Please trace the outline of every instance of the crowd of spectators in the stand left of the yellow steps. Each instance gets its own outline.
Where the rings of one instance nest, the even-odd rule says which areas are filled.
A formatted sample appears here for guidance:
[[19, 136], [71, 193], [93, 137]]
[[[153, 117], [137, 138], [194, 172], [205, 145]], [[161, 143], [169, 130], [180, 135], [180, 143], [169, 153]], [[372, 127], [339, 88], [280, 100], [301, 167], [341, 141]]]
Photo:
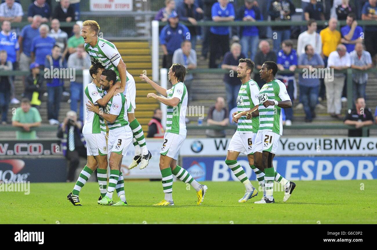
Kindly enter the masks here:
[[[64, 79], [45, 78], [44, 69], [70, 67], [89, 68], [89, 57], [84, 52], [84, 40], [80, 36], [81, 27], [75, 24], [80, 11], [80, 0], [60, 0], [52, 8], [51, 0], [32, 0], [29, 6], [21, 6], [18, 0], [3, 0], [0, 4], [0, 70], [29, 71], [22, 76], [23, 100], [29, 100], [31, 110], [39, 109], [41, 98], [48, 99], [48, 119], [50, 124], [59, 124], [58, 113], [64, 92]], [[24, 7], [24, 9], [23, 9]], [[28, 25], [13, 28], [12, 24], [28, 22]], [[60, 28], [60, 23], [68, 23]], [[69, 25], [69, 23], [71, 23]], [[80, 48], [78, 48], [80, 47]], [[71, 60], [69, 60], [69, 58]], [[9, 104], [18, 104], [15, 97], [15, 76], [0, 77], [1, 123], [8, 124]], [[71, 109], [78, 111], [82, 99], [82, 77], [70, 83]], [[81, 87], [78, 87], [81, 85]], [[80, 96], [81, 93], [81, 96]], [[26, 104], [24, 103], [24, 106]], [[26, 110], [26, 109], [25, 109]], [[34, 112], [34, 111], [33, 111]], [[13, 112], [13, 117], [15, 114]], [[80, 109], [80, 120], [83, 110]], [[13, 122], [14, 124], [14, 122]]]

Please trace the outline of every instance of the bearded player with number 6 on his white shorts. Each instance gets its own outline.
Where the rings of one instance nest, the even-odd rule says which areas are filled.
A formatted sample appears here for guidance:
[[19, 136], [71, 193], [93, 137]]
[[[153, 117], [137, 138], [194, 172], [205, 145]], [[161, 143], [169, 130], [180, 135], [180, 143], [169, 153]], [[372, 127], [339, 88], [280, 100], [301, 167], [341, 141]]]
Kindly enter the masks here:
[[251, 79], [254, 71], [254, 62], [250, 59], [240, 59], [237, 68], [237, 78], [241, 80], [242, 85], [238, 92], [237, 111], [232, 114], [232, 120], [238, 123], [236, 133], [234, 133], [228, 146], [227, 159], [225, 163], [233, 171], [234, 175], [245, 185], [246, 192], [244, 197], [238, 202], [246, 202], [258, 194], [257, 189], [253, 187], [247, 178], [245, 170], [237, 163], [239, 153], [247, 155], [249, 165], [253, 169], [253, 143], [259, 127], [259, 119], [248, 120], [246, 113], [258, 106], [259, 93], [258, 84]]

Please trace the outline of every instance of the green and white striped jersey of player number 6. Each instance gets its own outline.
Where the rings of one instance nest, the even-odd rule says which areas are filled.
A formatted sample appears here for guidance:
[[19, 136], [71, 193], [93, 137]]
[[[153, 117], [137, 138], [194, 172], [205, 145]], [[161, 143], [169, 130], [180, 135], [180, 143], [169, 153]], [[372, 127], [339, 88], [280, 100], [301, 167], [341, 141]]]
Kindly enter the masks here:
[[[250, 79], [245, 84], [242, 84], [237, 98], [237, 111], [243, 112], [252, 109], [255, 106], [259, 105], [258, 100], [259, 86], [258, 84]], [[254, 117], [251, 120], [247, 120], [246, 116], [242, 116], [238, 120], [237, 131], [244, 133], [256, 133], [259, 128], [259, 118]]]

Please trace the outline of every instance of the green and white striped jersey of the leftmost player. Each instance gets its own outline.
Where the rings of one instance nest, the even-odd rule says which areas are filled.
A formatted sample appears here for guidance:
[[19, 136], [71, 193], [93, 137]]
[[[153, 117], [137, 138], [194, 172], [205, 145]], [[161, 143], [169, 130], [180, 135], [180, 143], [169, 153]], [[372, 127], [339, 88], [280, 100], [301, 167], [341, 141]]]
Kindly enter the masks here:
[[[97, 101], [104, 96], [102, 88], [97, 87], [93, 82], [89, 83], [85, 88], [85, 103], [89, 104], [89, 101], [93, 104], [97, 104]], [[102, 117], [98, 114], [86, 110], [86, 118], [83, 126], [83, 134], [106, 134], [106, 124]]]

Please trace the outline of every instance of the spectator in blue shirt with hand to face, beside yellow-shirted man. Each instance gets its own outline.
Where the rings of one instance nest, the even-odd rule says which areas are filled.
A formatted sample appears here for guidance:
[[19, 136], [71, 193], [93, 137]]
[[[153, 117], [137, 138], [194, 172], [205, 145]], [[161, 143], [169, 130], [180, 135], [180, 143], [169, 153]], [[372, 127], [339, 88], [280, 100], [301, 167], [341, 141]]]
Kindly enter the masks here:
[[362, 41], [363, 28], [357, 25], [356, 15], [354, 13], [349, 13], [346, 19], [346, 26], [340, 29], [342, 33], [342, 40], [347, 52], [351, 53], [355, 49], [355, 44], [359, 41]]

